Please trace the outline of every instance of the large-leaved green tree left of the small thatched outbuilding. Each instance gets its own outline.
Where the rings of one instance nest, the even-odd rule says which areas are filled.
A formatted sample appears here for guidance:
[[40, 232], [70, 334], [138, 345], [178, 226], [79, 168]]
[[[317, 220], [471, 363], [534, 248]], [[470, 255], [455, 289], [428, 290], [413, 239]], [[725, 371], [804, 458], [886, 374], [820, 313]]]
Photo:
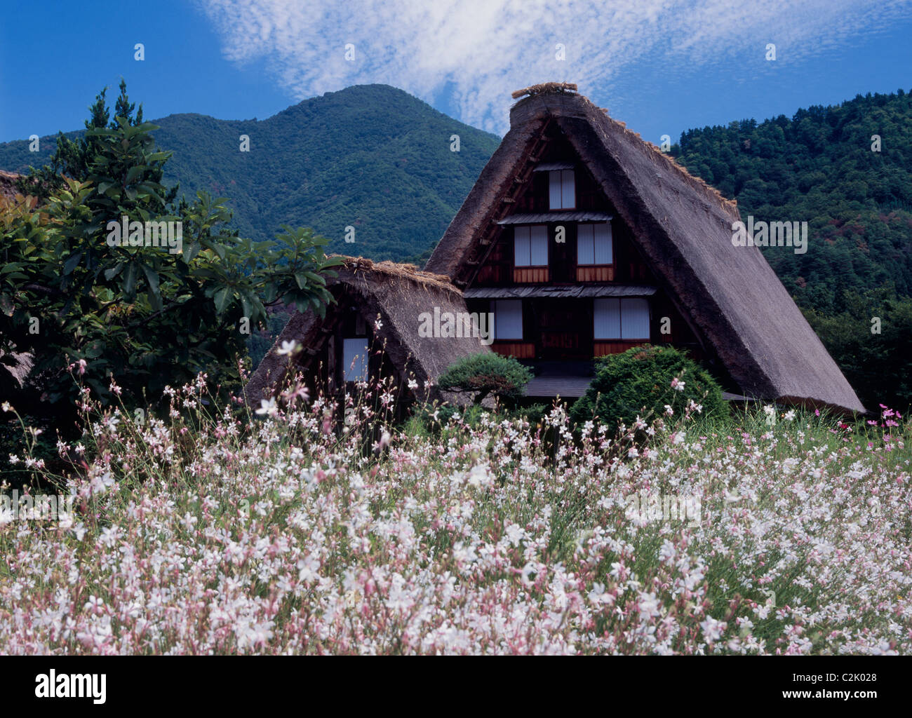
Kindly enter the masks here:
[[[117, 108], [130, 112], [121, 89]], [[234, 236], [226, 200], [205, 192], [169, 205], [160, 180], [170, 153], [155, 148], [155, 126], [137, 122], [140, 115], [95, 126], [107, 111], [93, 106], [85, 144], [64, 150], [83, 180], [62, 177], [46, 205], [0, 204], [0, 355], [34, 357], [32, 388], [44, 411], [62, 418], [77, 397], [72, 371], [106, 400], [118, 385], [132, 405], [198, 372], [224, 391], [239, 381], [237, 357], [266, 306], [325, 311], [332, 295], [324, 273], [339, 263], [311, 230], [285, 227], [278, 242]], [[173, 222], [174, 246], [148, 246], [149, 231], [111, 246], [124, 217]]]

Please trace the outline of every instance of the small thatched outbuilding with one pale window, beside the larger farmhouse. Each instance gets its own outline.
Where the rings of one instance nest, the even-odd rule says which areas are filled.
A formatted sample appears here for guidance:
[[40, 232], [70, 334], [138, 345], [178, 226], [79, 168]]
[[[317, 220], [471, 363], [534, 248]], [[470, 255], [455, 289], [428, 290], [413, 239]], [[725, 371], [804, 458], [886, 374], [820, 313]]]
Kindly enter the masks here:
[[[292, 315], [247, 383], [247, 403], [260, 405], [289, 373], [298, 372], [311, 390], [330, 394], [368, 378], [393, 377], [399, 396], [464, 402], [436, 386], [454, 362], [490, 351], [479, 335], [483, 321], [481, 332], [472, 331], [478, 327], [471, 322], [459, 323], [469, 316], [462, 292], [446, 277], [411, 264], [354, 257], [343, 262], [335, 270], [337, 277], [326, 281], [336, 303], [326, 307], [323, 319], [312, 310]], [[289, 342], [300, 344], [302, 351], [291, 357], [279, 354]], [[409, 388], [409, 383], [417, 387]]]

